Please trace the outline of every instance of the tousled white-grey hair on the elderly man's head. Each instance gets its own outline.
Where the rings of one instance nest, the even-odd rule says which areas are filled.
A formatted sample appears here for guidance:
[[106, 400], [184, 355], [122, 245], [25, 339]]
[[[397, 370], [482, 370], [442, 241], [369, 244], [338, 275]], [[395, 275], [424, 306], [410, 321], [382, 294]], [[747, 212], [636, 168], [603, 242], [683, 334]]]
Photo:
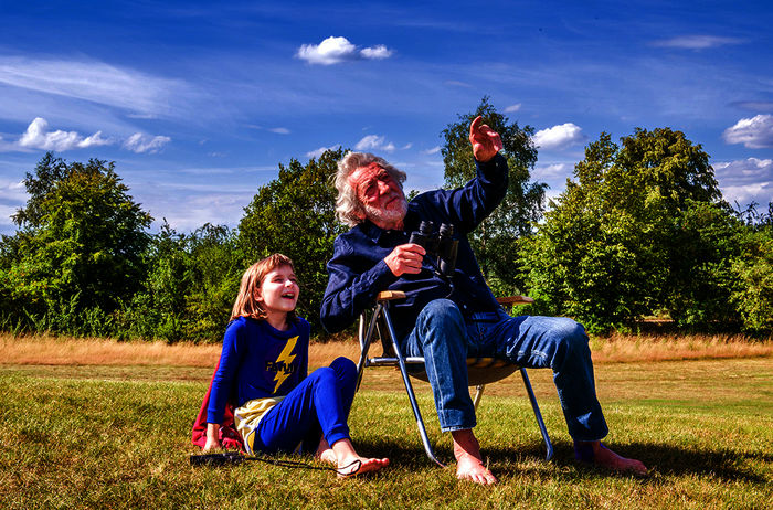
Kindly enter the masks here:
[[403, 182], [405, 182], [405, 172], [398, 170], [383, 158], [379, 158], [370, 152], [347, 152], [338, 161], [338, 171], [335, 180], [336, 190], [338, 190], [336, 214], [338, 214], [338, 220], [346, 225], [354, 226], [364, 221], [364, 208], [357, 199], [357, 190], [349, 185], [349, 176], [358, 168], [367, 167], [370, 163], [378, 163], [386, 170], [392, 176], [392, 179], [398, 181], [401, 189]]

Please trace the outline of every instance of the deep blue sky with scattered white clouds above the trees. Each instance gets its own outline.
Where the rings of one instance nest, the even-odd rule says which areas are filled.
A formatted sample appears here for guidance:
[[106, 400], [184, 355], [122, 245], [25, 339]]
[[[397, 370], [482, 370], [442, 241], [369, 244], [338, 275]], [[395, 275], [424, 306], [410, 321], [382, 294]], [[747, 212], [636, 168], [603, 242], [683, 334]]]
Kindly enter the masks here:
[[484, 95], [563, 190], [589, 141], [670, 127], [773, 200], [773, 4], [0, 0], [0, 233], [46, 150], [116, 161], [157, 220], [235, 226], [278, 163], [343, 146], [443, 183]]

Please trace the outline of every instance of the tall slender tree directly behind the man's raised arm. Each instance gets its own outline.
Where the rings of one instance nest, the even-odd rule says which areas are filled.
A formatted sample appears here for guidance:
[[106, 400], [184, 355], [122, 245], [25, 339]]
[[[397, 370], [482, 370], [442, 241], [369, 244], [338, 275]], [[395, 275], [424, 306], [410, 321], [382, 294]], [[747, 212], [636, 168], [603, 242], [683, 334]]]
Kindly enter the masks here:
[[518, 238], [530, 235], [533, 224], [542, 215], [547, 184], [529, 181], [530, 170], [537, 161], [537, 149], [531, 141], [533, 129], [529, 126], [520, 128], [518, 123], [510, 124], [485, 96], [474, 113], [459, 115], [458, 121], [443, 130], [445, 142], [441, 153], [446, 187], [462, 187], [475, 177], [468, 136], [469, 125], [477, 116], [501, 136], [510, 180], [504, 202], [472, 234], [470, 245], [495, 293], [510, 294], [522, 286], [512, 254], [517, 251]]

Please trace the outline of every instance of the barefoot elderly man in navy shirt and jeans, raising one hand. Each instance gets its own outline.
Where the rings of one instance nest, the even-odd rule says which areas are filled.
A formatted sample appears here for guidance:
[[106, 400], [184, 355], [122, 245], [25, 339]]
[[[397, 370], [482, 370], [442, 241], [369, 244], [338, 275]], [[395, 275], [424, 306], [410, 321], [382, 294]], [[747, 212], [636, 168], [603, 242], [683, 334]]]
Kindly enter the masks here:
[[[456, 190], [431, 191], [407, 203], [405, 173], [381, 158], [348, 153], [338, 163], [339, 219], [352, 229], [338, 236], [328, 263], [321, 307], [331, 332], [351, 325], [385, 289], [403, 290], [392, 318], [406, 355], [423, 355], [441, 429], [451, 432], [456, 475], [478, 484], [496, 478], [483, 463], [473, 434], [475, 408], [467, 389], [466, 358], [493, 355], [527, 368], [551, 368], [578, 459], [618, 471], [645, 474], [645, 466], [601, 443], [608, 429], [596, 400], [587, 336], [571, 319], [510, 317], [491, 295], [467, 242], [501, 202], [508, 168], [497, 132], [480, 117], [469, 128], [477, 177]], [[452, 277], [435, 270], [425, 249], [410, 243], [422, 221], [454, 226], [458, 240]]]

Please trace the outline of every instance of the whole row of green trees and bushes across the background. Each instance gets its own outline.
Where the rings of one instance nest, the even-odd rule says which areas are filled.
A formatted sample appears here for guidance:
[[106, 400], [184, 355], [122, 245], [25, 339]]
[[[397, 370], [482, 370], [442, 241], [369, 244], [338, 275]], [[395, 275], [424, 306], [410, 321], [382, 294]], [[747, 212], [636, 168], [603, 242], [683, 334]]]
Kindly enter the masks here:
[[[487, 97], [442, 132], [445, 185], [475, 174], [466, 138], [477, 115], [502, 136], [510, 166], [505, 203], [470, 238], [495, 294], [528, 294], [528, 312], [570, 316], [592, 332], [660, 317], [682, 329], [773, 333], [773, 203], [731, 206], [699, 144], [669, 128], [620, 142], [601, 134], [546, 204], [547, 185], [531, 179], [533, 129]], [[113, 162], [46, 153], [25, 176], [17, 232], [0, 241], [0, 329], [218, 341], [244, 269], [282, 252], [296, 264], [299, 314], [326, 338], [325, 265], [345, 230], [330, 178], [343, 153], [280, 163], [237, 227], [190, 233], [166, 222], [150, 233], [152, 217]]]

